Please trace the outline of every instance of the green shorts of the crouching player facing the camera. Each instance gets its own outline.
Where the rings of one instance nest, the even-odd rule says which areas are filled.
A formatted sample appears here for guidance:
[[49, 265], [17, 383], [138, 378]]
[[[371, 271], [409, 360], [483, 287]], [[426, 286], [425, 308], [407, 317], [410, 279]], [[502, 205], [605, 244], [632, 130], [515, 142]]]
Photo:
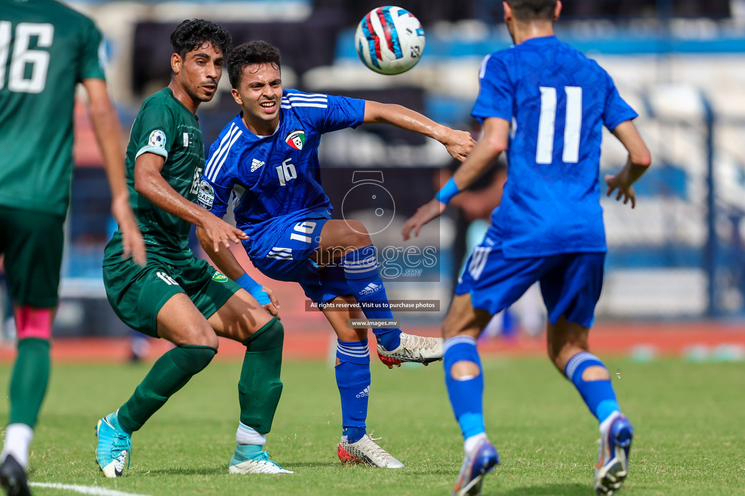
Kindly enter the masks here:
[[186, 293], [209, 318], [241, 289], [205, 260], [192, 258], [186, 265], [171, 265], [151, 254], [145, 267], [131, 259], [104, 265], [104, 287], [121, 321], [153, 338], [159, 337], [158, 312], [174, 294]]

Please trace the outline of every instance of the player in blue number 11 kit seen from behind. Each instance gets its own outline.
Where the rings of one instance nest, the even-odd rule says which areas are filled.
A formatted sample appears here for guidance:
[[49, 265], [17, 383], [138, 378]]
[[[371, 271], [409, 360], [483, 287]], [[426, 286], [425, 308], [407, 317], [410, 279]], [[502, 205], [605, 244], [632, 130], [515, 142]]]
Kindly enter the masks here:
[[[594, 486], [612, 495], [628, 473], [633, 428], [621, 413], [603, 362], [587, 335], [603, 285], [606, 252], [598, 202], [600, 141], [606, 126], [627, 148], [626, 166], [606, 175], [606, 194], [635, 204], [632, 184], [650, 152], [631, 122], [636, 112], [597, 63], [554, 36], [557, 0], [507, 0], [504, 20], [515, 45], [484, 59], [472, 115], [484, 138], [435, 199], [417, 210], [404, 239], [445, 210], [489, 162], [507, 149], [509, 174], [501, 205], [469, 259], [443, 322], [445, 377], [466, 456], [454, 495], [478, 495], [499, 463], [486, 438], [484, 376], [476, 338], [491, 315], [540, 281], [548, 309], [548, 355], [600, 422]], [[510, 132], [512, 135], [510, 136]]]

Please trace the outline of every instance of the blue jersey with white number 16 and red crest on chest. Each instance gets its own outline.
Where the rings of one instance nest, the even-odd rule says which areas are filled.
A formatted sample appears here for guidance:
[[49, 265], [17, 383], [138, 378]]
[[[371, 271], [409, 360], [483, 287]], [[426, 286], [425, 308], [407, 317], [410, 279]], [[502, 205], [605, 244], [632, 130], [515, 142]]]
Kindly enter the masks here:
[[197, 202], [223, 216], [233, 189], [245, 190], [233, 196], [233, 211], [235, 225], [250, 236], [244, 246], [252, 256], [273, 247], [268, 221], [330, 219], [333, 207], [323, 193], [318, 163], [320, 138], [359, 126], [364, 111], [364, 100], [285, 89], [273, 135], [253, 134], [239, 114], [210, 146]]

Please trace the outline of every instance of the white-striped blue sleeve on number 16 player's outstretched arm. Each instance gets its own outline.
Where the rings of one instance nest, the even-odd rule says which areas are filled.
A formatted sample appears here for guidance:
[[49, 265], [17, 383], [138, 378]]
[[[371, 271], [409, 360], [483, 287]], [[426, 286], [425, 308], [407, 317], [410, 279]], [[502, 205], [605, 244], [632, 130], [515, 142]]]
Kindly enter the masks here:
[[305, 107], [305, 115], [320, 133], [357, 127], [365, 118], [365, 100], [358, 98], [302, 93], [288, 93], [286, 98], [294, 107]]

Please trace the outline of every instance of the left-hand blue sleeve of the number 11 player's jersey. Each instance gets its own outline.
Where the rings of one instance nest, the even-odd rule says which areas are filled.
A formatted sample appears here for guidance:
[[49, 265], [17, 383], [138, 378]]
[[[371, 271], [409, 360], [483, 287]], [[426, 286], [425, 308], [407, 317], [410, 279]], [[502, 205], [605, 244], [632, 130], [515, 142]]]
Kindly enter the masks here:
[[512, 121], [515, 90], [504, 62], [494, 54], [487, 55], [481, 62], [478, 78], [481, 89], [471, 115], [481, 123], [488, 117]]

